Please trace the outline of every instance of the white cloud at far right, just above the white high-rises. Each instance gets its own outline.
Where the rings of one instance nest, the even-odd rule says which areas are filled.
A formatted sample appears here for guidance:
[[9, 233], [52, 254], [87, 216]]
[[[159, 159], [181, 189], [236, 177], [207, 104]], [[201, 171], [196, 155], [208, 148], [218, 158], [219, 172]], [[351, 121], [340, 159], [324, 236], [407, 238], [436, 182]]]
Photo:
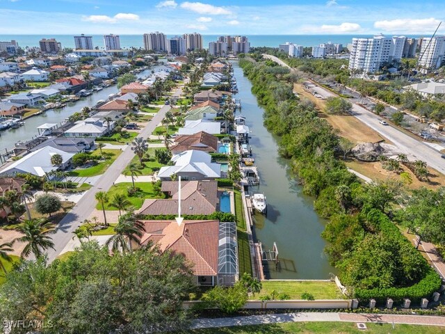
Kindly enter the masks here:
[[391, 19], [374, 22], [374, 28], [404, 33], [430, 33], [439, 25], [439, 19]]

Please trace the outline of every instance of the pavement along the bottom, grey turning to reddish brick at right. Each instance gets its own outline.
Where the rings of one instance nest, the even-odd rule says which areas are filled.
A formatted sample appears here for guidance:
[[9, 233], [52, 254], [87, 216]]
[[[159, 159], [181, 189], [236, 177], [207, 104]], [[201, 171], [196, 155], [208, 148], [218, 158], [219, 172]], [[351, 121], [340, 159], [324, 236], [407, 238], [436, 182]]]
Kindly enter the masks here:
[[445, 326], [445, 317], [424, 315], [380, 315], [342, 312], [295, 312], [273, 315], [250, 315], [245, 317], [226, 317], [214, 319], [196, 319], [191, 328], [217, 328], [228, 326], [248, 326], [261, 324], [280, 324], [301, 321], [346, 321], [373, 322], [378, 324], [413, 324]]

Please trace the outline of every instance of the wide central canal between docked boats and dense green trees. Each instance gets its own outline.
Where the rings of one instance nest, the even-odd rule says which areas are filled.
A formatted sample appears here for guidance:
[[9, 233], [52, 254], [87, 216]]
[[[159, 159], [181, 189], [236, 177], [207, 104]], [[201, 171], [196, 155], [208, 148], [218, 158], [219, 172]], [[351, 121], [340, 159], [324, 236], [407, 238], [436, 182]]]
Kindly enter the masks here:
[[335, 269], [323, 252], [326, 242], [321, 238], [326, 221], [314, 212], [313, 198], [302, 193], [291, 174], [289, 161], [278, 155], [277, 138], [263, 125], [264, 109], [251, 93], [252, 84], [234, 61], [234, 77], [241, 99], [241, 114], [250, 128], [250, 145], [259, 170], [260, 185], [252, 191], [264, 193], [268, 203], [267, 216], [255, 214], [255, 237], [264, 250], [272, 250], [276, 242], [280, 264], [270, 262], [267, 278], [271, 279], [328, 279]]

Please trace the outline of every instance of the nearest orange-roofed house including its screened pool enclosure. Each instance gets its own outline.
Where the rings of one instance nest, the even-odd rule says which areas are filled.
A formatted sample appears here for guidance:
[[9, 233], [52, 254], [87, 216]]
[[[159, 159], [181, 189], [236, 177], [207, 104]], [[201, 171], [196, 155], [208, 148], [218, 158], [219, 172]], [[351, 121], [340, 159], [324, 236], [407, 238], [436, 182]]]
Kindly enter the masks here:
[[184, 255], [192, 264], [195, 283], [202, 286], [234, 285], [238, 279], [238, 252], [235, 223], [219, 221], [140, 221], [143, 236], [131, 241], [132, 248], [149, 242], [161, 252]]

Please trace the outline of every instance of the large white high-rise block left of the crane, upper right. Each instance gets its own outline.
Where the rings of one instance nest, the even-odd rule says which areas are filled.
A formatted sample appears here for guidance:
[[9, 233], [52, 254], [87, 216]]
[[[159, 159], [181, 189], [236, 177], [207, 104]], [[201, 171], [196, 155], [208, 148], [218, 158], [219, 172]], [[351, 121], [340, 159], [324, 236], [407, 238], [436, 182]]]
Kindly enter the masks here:
[[383, 63], [401, 61], [405, 40], [405, 36], [391, 38], [381, 34], [373, 38], [353, 38], [349, 50], [349, 70], [374, 73], [380, 70]]

